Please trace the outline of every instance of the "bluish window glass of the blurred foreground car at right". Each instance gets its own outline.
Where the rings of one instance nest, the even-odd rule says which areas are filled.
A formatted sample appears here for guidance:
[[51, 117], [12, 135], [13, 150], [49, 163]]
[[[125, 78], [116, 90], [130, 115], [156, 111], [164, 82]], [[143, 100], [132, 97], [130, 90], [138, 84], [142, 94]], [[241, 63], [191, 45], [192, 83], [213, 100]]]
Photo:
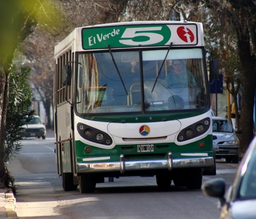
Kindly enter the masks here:
[[246, 168], [240, 187], [241, 199], [256, 199], [256, 150]]

